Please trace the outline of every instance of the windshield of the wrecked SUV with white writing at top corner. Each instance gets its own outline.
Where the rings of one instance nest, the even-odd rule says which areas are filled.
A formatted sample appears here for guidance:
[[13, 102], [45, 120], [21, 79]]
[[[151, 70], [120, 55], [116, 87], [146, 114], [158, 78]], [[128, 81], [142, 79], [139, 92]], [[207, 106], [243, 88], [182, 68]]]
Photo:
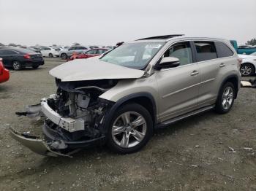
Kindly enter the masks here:
[[132, 69], [144, 69], [157, 54], [165, 42], [136, 42], [122, 44], [100, 58], [101, 61], [126, 66]]

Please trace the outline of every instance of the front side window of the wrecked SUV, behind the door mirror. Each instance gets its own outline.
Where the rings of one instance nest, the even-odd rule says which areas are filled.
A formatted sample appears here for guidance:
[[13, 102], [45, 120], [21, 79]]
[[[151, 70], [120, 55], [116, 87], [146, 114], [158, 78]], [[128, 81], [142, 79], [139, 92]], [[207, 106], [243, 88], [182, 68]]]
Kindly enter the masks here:
[[164, 57], [175, 57], [180, 61], [180, 66], [193, 63], [192, 50], [189, 42], [181, 42], [172, 45], [164, 54]]

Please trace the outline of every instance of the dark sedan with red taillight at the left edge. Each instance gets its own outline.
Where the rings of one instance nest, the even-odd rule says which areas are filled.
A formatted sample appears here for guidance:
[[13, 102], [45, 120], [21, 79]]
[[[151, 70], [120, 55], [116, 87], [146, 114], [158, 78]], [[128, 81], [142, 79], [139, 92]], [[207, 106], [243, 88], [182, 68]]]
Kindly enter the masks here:
[[42, 55], [22, 48], [1, 48], [0, 58], [3, 58], [5, 67], [12, 67], [15, 70], [20, 70], [27, 66], [37, 69], [45, 63]]

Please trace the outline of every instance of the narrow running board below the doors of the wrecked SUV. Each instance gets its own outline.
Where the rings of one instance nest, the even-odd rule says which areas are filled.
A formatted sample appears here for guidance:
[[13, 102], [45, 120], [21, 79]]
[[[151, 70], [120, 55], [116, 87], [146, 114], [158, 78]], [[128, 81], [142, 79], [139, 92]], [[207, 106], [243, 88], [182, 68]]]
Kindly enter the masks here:
[[209, 110], [211, 110], [211, 109], [214, 109], [214, 107], [215, 107], [215, 105], [206, 106], [206, 107], [197, 109], [197, 110], [195, 110], [195, 111], [193, 111], [193, 112], [189, 112], [189, 113], [187, 113], [187, 114], [181, 114], [181, 115], [178, 116], [178, 117], [174, 117], [174, 118], [172, 118], [172, 119], [170, 119], [170, 120], [166, 120], [166, 121], [164, 121], [164, 122], [161, 122], [161, 123], [157, 124], [157, 125], [155, 126], [155, 128], [156, 128], [156, 129], [157, 129], [157, 128], [167, 128], [169, 125], [173, 124], [174, 122], [178, 122], [179, 120], [183, 120], [183, 119], [185, 119], [185, 118], [187, 118], [187, 117], [191, 117], [191, 116], [194, 116], [194, 115], [196, 115], [196, 114], [201, 114], [201, 113], [203, 113], [203, 112], [207, 112], [207, 111], [209, 111]]

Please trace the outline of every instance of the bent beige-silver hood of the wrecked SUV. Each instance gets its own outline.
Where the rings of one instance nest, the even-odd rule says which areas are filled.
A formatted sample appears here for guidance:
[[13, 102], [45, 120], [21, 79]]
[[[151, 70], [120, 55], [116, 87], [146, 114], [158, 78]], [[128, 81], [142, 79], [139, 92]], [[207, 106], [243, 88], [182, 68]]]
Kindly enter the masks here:
[[75, 59], [51, 69], [49, 73], [61, 79], [62, 82], [68, 82], [93, 79], [135, 79], [142, 77], [144, 71], [100, 61], [97, 57]]

